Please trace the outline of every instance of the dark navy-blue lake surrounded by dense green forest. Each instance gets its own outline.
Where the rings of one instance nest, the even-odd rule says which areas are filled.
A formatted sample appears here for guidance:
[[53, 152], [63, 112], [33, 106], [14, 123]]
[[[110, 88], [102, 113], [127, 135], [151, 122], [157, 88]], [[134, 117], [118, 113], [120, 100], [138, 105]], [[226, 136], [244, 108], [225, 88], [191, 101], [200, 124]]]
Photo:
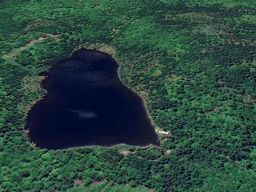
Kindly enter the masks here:
[[48, 149], [159, 145], [142, 98], [120, 81], [118, 67], [106, 53], [81, 49], [41, 73], [48, 93], [29, 112], [31, 141]]

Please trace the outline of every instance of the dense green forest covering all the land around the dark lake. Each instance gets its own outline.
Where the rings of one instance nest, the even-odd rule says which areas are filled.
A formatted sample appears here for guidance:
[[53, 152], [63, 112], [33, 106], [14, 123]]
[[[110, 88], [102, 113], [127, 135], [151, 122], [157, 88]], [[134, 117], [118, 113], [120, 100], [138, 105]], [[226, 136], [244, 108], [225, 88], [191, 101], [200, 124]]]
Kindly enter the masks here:
[[[0, 1], [0, 191], [256, 191], [255, 6]], [[156, 129], [172, 133], [160, 147], [28, 141], [27, 113], [46, 94], [37, 74], [89, 45], [112, 53]]]

